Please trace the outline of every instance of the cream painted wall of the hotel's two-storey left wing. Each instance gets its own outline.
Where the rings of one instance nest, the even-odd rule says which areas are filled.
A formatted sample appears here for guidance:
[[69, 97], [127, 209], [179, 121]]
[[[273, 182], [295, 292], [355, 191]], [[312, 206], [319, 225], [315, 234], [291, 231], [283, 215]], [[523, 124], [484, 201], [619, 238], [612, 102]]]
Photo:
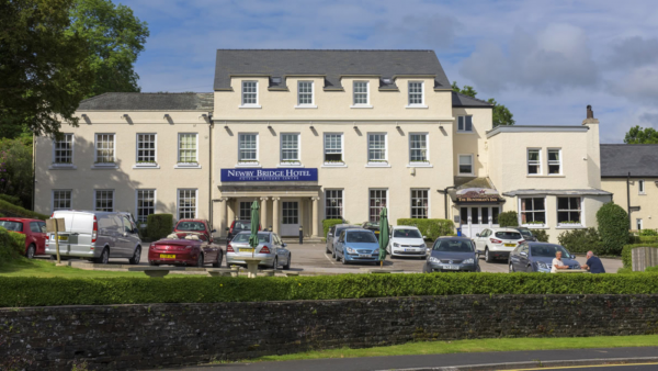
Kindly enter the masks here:
[[[137, 189], [156, 189], [156, 212], [177, 213], [177, 190], [197, 189], [197, 217], [208, 215], [209, 135], [208, 112], [77, 112], [86, 113], [79, 127], [64, 126], [63, 133], [73, 134], [76, 169], [52, 169], [53, 142], [36, 139], [35, 210], [52, 213], [52, 191], [72, 190], [72, 207], [93, 210], [94, 190], [114, 190], [114, 209], [136, 214]], [[129, 122], [120, 119], [127, 113]], [[168, 113], [170, 122], [162, 116]], [[94, 168], [94, 134], [115, 134], [117, 169]], [[134, 169], [137, 133], [157, 133], [159, 169]], [[178, 134], [198, 133], [197, 159], [201, 169], [174, 169], [178, 156]], [[174, 216], [175, 217], [175, 216]]]

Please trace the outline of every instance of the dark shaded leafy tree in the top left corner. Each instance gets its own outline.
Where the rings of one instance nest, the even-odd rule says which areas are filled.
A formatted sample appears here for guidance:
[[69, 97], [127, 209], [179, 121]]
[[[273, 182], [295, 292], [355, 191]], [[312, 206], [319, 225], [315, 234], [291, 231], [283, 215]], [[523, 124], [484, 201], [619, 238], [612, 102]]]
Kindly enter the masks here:
[[[0, 2], [0, 126], [54, 134], [91, 91], [87, 42], [69, 30], [73, 0]], [[15, 131], [14, 131], [15, 132]]]

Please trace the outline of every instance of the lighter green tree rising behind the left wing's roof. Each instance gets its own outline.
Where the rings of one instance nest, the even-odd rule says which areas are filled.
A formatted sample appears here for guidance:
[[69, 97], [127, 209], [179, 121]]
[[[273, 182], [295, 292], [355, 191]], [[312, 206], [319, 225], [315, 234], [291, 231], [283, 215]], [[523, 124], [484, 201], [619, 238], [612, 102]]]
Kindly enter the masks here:
[[134, 64], [149, 36], [126, 5], [110, 0], [76, 0], [70, 11], [69, 34], [79, 34], [89, 45], [88, 61], [94, 75], [86, 98], [116, 91], [140, 91]]

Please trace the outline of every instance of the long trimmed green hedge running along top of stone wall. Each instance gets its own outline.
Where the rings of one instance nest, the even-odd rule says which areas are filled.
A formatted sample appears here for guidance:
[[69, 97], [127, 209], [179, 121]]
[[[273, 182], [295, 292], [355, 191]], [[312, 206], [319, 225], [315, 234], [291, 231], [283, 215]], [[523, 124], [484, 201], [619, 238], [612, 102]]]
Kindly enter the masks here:
[[0, 307], [339, 300], [466, 294], [656, 294], [658, 274], [341, 274], [65, 279], [0, 277]]

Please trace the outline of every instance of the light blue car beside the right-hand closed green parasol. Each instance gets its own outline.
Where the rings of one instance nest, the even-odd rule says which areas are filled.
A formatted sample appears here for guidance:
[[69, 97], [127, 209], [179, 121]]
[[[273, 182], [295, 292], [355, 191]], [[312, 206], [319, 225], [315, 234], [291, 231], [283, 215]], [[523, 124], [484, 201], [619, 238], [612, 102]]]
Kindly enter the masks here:
[[379, 262], [379, 243], [374, 232], [344, 229], [334, 245], [336, 260], [351, 262]]

